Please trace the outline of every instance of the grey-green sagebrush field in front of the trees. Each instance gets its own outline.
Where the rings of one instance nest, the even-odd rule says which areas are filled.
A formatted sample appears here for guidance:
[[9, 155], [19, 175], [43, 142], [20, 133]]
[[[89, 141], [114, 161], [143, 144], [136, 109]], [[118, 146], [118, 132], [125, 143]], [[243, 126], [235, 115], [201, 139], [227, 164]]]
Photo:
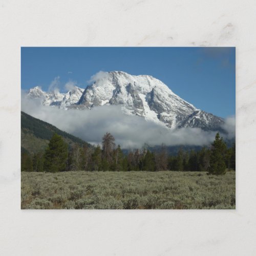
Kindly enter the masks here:
[[22, 209], [235, 209], [236, 173], [22, 172]]

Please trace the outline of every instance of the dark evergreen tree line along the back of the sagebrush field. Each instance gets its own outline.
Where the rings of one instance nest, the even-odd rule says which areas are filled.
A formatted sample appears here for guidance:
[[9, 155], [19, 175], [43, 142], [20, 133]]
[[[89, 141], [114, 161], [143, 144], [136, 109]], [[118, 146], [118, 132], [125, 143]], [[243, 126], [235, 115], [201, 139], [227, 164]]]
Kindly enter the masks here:
[[200, 151], [184, 151], [180, 148], [177, 156], [167, 154], [164, 144], [159, 152], [146, 148], [137, 149], [124, 155], [115, 138], [106, 133], [102, 145], [89, 147], [75, 144], [68, 149], [60, 135], [52, 136], [45, 152], [30, 156], [22, 152], [21, 170], [26, 172], [64, 172], [64, 171], [117, 171], [129, 172], [144, 170], [199, 171], [209, 174], [224, 174], [226, 169], [236, 169], [236, 145], [228, 148], [219, 133], [210, 147]]

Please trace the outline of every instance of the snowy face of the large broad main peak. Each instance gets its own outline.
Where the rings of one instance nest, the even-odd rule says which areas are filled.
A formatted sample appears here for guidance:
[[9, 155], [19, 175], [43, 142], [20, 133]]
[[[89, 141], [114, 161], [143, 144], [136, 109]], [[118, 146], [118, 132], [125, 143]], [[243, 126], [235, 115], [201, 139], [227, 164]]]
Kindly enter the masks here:
[[173, 128], [197, 111], [194, 105], [172, 92], [160, 80], [113, 71], [84, 90], [78, 104], [87, 109], [102, 104], [121, 105], [124, 113], [143, 116]]

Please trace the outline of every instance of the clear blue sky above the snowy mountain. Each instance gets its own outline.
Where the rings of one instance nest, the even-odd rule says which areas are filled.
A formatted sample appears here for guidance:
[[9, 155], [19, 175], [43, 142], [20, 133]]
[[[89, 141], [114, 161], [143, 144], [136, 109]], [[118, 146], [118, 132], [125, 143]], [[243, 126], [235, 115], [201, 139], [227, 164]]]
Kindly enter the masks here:
[[86, 88], [99, 71], [152, 75], [197, 108], [220, 117], [235, 114], [234, 47], [23, 47], [23, 90], [47, 91], [59, 76], [60, 89], [72, 80]]

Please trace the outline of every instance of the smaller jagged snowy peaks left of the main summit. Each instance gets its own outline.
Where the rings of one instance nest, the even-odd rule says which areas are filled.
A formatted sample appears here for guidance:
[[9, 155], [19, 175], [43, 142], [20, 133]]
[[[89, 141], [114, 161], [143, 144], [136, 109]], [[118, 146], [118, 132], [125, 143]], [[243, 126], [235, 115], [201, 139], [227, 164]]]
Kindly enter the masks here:
[[60, 108], [67, 108], [79, 101], [84, 89], [74, 87], [67, 93], [50, 92], [46, 93], [36, 86], [29, 90], [27, 97], [31, 99], [39, 98], [42, 100], [42, 105], [45, 106], [59, 106]]

